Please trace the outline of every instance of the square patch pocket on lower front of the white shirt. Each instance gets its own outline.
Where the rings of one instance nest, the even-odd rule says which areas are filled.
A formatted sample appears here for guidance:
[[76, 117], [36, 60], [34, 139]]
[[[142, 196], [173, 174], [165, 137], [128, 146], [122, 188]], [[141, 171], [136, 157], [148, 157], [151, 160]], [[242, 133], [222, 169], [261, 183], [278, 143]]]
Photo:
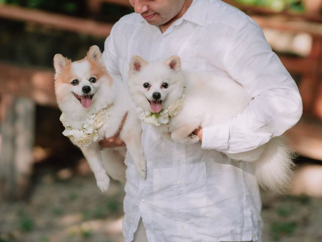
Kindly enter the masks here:
[[205, 163], [153, 171], [153, 206], [156, 215], [185, 222], [206, 214]]

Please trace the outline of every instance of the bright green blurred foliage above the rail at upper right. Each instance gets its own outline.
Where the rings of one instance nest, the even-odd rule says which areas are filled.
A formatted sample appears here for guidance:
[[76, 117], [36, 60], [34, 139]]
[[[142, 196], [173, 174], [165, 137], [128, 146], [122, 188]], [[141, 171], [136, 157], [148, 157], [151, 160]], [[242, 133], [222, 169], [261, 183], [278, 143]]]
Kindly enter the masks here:
[[275, 12], [289, 10], [292, 12], [304, 12], [303, 3], [301, 0], [234, 0], [235, 2], [245, 4], [267, 7]]

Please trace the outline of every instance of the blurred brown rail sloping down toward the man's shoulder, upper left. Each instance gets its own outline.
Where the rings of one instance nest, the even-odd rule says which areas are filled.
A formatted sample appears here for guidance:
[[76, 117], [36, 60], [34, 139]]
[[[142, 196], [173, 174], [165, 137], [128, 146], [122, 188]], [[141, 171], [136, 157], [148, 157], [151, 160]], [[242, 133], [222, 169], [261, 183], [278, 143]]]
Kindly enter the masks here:
[[0, 18], [33, 22], [61, 30], [107, 37], [113, 24], [0, 4]]

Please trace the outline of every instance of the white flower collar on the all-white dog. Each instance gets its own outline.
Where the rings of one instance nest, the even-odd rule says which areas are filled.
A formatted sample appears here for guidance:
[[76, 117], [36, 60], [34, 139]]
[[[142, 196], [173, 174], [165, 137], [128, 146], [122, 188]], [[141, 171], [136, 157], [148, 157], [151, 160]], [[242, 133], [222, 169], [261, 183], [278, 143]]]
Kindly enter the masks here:
[[159, 126], [161, 124], [168, 124], [169, 118], [177, 115], [181, 111], [184, 97], [185, 95], [183, 94], [176, 102], [171, 104], [165, 110], [161, 110], [159, 112], [144, 111], [140, 107], [136, 108], [136, 112], [139, 114], [139, 118], [145, 124], [155, 126]]

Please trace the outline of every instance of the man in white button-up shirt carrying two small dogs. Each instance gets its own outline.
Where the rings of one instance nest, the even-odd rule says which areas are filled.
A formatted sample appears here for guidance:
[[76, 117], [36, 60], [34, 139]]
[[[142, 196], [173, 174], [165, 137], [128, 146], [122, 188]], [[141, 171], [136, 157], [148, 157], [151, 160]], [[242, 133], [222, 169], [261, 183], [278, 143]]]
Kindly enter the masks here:
[[[130, 158], [125, 241], [261, 241], [259, 188], [251, 165], [220, 152], [252, 150], [283, 134], [302, 113], [298, 89], [258, 27], [219, 0], [130, 0], [105, 42], [108, 71], [127, 81], [132, 55], [179, 55], [182, 68], [234, 79], [253, 100], [224, 125], [195, 133], [201, 145], [168, 142], [142, 125], [147, 160], [140, 179]], [[233, 97], [232, 97], [233, 98]], [[120, 144], [117, 137], [102, 142]]]

